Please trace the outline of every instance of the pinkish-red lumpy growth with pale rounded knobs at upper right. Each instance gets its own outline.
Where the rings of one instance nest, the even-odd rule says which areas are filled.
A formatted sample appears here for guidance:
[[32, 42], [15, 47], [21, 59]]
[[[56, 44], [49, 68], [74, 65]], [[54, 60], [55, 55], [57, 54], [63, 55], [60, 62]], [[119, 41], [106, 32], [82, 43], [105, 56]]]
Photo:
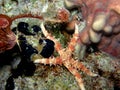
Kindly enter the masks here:
[[[114, 45], [120, 45], [119, 40], [116, 39], [120, 34], [119, 4], [120, 0], [65, 0], [67, 9], [79, 8], [82, 11], [83, 19], [86, 20], [84, 30], [80, 32], [79, 53], [84, 52], [85, 49], [82, 48], [91, 43], [100, 43], [98, 46], [100, 50], [119, 57], [120, 48], [117, 47], [116, 50], [114, 47]], [[106, 38], [109, 42], [104, 40]], [[80, 57], [82, 56], [83, 53]]]

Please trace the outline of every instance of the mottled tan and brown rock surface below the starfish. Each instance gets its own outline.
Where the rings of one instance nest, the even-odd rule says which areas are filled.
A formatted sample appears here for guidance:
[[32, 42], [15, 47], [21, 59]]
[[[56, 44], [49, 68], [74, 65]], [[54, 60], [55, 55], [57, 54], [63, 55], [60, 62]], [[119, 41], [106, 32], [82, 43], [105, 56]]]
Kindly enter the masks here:
[[[90, 77], [80, 71], [86, 90], [114, 90], [114, 84], [119, 84], [120, 62], [118, 60], [106, 54], [93, 53], [82, 63], [99, 75]], [[36, 66], [33, 76], [19, 76], [14, 79], [15, 90], [80, 90], [73, 75], [65, 67], [42, 64]], [[6, 79], [10, 76], [10, 66], [4, 66], [0, 72], [0, 88], [4, 90]]]

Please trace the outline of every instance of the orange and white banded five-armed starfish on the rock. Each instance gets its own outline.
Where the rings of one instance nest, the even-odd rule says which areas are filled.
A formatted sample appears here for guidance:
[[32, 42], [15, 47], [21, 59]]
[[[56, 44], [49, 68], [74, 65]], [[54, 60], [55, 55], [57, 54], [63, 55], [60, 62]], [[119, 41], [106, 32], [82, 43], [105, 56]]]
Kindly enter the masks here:
[[87, 73], [90, 76], [97, 76], [97, 74], [92, 73], [80, 61], [74, 60], [74, 58], [72, 57], [74, 47], [75, 47], [76, 42], [79, 38], [78, 25], [75, 24], [75, 32], [74, 32], [73, 37], [71, 38], [71, 40], [68, 44], [68, 47], [66, 47], [66, 48], [63, 48], [61, 46], [60, 42], [57, 39], [55, 39], [50, 33], [47, 32], [43, 23], [41, 24], [41, 29], [42, 29], [42, 32], [46, 38], [54, 41], [55, 49], [58, 52], [59, 56], [49, 57], [47, 59], [46, 58], [36, 59], [34, 61], [34, 63], [41, 63], [41, 64], [45, 64], [45, 65], [49, 64], [49, 65], [63, 65], [63, 66], [65, 66], [74, 75], [81, 90], [85, 90], [82, 77], [79, 74], [78, 70], [82, 70], [83, 72]]

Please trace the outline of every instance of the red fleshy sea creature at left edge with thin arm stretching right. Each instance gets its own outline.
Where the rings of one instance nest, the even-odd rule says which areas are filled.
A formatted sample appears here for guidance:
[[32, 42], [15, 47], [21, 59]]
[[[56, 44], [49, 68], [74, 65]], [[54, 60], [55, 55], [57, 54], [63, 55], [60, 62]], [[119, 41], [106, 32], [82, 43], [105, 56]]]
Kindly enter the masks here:
[[15, 34], [11, 31], [10, 26], [15, 19], [24, 17], [43, 19], [42, 16], [32, 14], [21, 14], [14, 17], [0, 14], [0, 53], [14, 47], [17, 39]]

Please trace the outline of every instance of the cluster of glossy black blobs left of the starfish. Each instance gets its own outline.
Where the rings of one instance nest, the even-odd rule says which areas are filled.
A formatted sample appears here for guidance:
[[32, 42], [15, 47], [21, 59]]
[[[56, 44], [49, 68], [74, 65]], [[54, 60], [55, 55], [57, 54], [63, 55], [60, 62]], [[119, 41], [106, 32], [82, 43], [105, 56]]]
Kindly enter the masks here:
[[[22, 24], [22, 26], [21, 26]], [[19, 26], [19, 28], [18, 28]], [[50, 57], [54, 52], [54, 42], [49, 39], [41, 39], [38, 36], [40, 27], [37, 25], [33, 25], [31, 28], [33, 28], [33, 32], [29, 32], [28, 29], [28, 23], [26, 22], [19, 22], [17, 27], [13, 28], [12, 31], [18, 36], [18, 44], [16, 44], [11, 50], [10, 53], [7, 54], [11, 58], [10, 60], [18, 62], [16, 67], [12, 66], [12, 74], [7, 79], [6, 83], [6, 90], [9, 88], [14, 89], [14, 79], [18, 78], [18, 76], [32, 76], [35, 72], [36, 65], [32, 61], [32, 56], [38, 54], [41, 55], [44, 58]], [[19, 29], [19, 30], [18, 30]], [[26, 31], [26, 29], [28, 31]], [[23, 30], [21, 32], [21, 30]], [[16, 33], [17, 32], [17, 33]], [[36, 48], [33, 44], [29, 43], [28, 40], [35, 40], [33, 38], [36, 37], [37, 45]], [[30, 38], [30, 39], [28, 39]], [[40, 39], [40, 40], [39, 40]], [[36, 43], [36, 42], [34, 42]], [[42, 48], [43, 45], [43, 48]], [[40, 47], [41, 46], [41, 47]], [[6, 51], [7, 52], [7, 51]], [[47, 54], [46, 54], [47, 53]], [[5, 54], [5, 53], [3, 53]], [[12, 54], [15, 54], [14, 57]], [[6, 55], [5, 55], [6, 56]], [[16, 57], [19, 56], [19, 59]], [[3, 57], [4, 59], [4, 57]], [[14, 61], [12, 62], [14, 64]], [[5, 61], [6, 62], [6, 61]]]

